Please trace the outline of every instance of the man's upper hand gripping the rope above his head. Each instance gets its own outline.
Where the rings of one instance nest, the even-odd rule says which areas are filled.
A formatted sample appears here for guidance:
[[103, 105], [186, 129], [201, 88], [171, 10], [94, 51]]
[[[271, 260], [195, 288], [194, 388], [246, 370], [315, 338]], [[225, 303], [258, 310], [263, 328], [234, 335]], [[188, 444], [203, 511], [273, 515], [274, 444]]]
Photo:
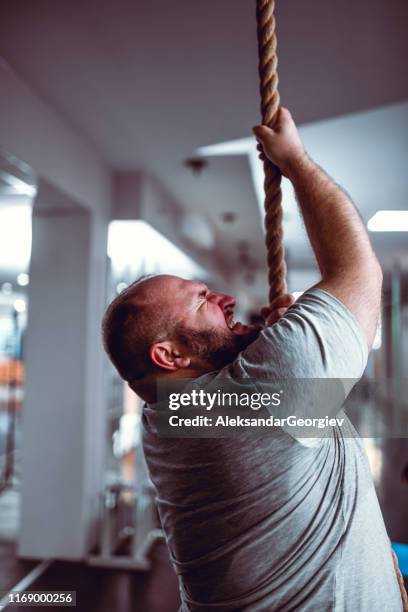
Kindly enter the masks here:
[[265, 161], [268, 158], [282, 174], [290, 178], [291, 170], [306, 153], [288, 109], [279, 108], [273, 130], [266, 125], [257, 125], [253, 132], [258, 141], [260, 159]]

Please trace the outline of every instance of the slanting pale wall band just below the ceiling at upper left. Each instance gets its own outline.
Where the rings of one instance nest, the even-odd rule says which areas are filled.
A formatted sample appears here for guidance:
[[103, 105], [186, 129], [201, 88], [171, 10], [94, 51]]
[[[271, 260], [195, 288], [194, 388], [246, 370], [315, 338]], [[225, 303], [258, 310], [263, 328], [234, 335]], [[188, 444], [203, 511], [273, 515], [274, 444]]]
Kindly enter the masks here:
[[0, 148], [97, 214], [110, 212], [110, 173], [78, 131], [0, 60]]

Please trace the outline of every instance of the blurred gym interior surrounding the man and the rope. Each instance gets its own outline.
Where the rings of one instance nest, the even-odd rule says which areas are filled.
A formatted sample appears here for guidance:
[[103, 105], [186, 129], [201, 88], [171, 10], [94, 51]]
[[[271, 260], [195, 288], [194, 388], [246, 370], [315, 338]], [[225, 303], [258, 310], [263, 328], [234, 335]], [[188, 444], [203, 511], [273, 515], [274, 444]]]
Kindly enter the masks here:
[[[254, 5], [2, 2], [0, 591], [178, 609], [141, 402], [107, 362], [100, 321], [145, 273], [200, 278], [247, 320], [265, 303]], [[282, 104], [356, 202], [384, 270], [350, 412], [408, 574], [408, 5], [286, 0], [276, 15]], [[299, 295], [319, 277], [283, 192]]]

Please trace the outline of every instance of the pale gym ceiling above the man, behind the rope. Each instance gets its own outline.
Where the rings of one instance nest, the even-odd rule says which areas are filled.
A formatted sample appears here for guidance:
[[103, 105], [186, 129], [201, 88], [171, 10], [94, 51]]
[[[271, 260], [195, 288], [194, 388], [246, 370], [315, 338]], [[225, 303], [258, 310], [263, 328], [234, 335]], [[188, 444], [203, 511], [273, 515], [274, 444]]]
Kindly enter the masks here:
[[[113, 168], [142, 170], [183, 209], [207, 215], [230, 269], [240, 265], [242, 240], [263, 266], [247, 158], [211, 158], [200, 176], [183, 161], [204, 145], [247, 136], [259, 121], [254, 4], [3, 0], [0, 23], [0, 54], [6, 61]], [[369, 214], [379, 201], [372, 179], [381, 172], [375, 148], [381, 142], [377, 119], [367, 111], [408, 100], [408, 3], [282, 0], [276, 12], [282, 103], [299, 124], [307, 124], [306, 144], [323, 164], [330, 157], [330, 171], [339, 180], [344, 167], [346, 180], [358, 168], [358, 202], [364, 201]], [[394, 136], [403, 137], [401, 121], [406, 127], [406, 114], [401, 118], [395, 108], [405, 107], [391, 106], [381, 118], [391, 156]], [[343, 116], [351, 122], [333, 119]], [[398, 147], [406, 155], [406, 148]], [[392, 193], [404, 192], [402, 159], [392, 182], [381, 176], [383, 207], [391, 207], [384, 197], [390, 193], [387, 185]], [[234, 212], [235, 221], [225, 223], [225, 212]], [[292, 265], [309, 265], [298, 235], [287, 229]]]

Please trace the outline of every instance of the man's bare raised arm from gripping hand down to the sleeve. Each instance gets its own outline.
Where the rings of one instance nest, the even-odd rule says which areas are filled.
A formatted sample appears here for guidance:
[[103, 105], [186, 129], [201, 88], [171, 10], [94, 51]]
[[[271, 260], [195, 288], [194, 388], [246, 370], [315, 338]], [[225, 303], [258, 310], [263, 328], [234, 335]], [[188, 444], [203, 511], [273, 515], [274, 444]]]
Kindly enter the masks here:
[[317, 286], [351, 310], [371, 349], [380, 312], [382, 272], [364, 223], [347, 194], [308, 157], [288, 110], [279, 110], [275, 129], [257, 126], [254, 133], [260, 157], [266, 155], [294, 186], [322, 275]]

